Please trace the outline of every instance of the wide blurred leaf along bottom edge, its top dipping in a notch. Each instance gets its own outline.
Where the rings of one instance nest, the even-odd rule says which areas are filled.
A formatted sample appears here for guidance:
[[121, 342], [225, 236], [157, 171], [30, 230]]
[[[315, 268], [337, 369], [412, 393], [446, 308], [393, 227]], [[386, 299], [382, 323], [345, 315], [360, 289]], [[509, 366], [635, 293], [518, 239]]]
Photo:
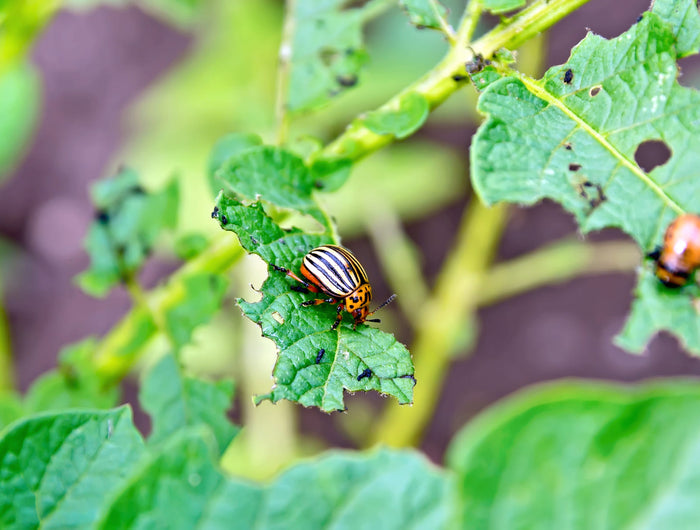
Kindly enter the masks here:
[[383, 449], [297, 465], [269, 486], [225, 479], [198, 433], [135, 475], [99, 528], [445, 528], [448, 477], [424, 457]]

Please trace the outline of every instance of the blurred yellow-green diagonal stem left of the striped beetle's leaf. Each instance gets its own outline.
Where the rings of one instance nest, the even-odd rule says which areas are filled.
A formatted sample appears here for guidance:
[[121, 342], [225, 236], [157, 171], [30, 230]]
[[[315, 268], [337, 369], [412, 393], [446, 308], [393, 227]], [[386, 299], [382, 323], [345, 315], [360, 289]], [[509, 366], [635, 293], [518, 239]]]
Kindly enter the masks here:
[[146, 307], [136, 305], [105, 335], [95, 354], [97, 373], [106, 384], [121, 380], [158, 334], [153, 314], [163, 318], [184, 293], [183, 280], [202, 273], [220, 274], [243, 257], [232, 234], [224, 234], [196, 258], [185, 263], [168, 283], [144, 295]]

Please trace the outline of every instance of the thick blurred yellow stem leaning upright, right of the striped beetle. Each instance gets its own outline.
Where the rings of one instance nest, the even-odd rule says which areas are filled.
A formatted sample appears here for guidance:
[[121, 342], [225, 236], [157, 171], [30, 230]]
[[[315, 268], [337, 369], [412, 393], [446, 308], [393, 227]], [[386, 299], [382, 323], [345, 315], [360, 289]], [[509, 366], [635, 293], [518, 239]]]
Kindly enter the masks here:
[[414, 404], [390, 403], [377, 422], [372, 443], [416, 445], [433, 415], [452, 355], [476, 309], [477, 293], [490, 266], [505, 224], [504, 206], [486, 208], [476, 198], [463, 217], [456, 247], [425, 301], [410, 348], [418, 384]]

